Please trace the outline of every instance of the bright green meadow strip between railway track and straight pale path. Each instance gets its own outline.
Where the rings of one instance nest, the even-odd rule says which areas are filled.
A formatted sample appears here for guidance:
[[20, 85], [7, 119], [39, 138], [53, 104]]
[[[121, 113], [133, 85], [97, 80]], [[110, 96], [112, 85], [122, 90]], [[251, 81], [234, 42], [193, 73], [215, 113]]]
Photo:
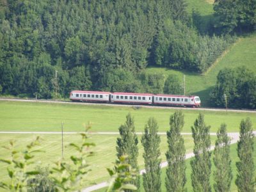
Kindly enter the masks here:
[[[176, 110], [171, 108], [132, 108], [125, 106], [102, 106], [88, 104], [53, 104], [40, 102], [0, 101], [0, 131], [84, 131], [84, 125], [92, 122], [92, 132], [118, 131], [125, 122], [127, 113], [134, 116], [136, 131], [142, 132], [149, 117], [154, 116], [159, 131], [169, 129], [169, 118]], [[183, 108], [180, 108], [182, 110]], [[255, 113], [235, 113], [225, 111], [197, 111], [183, 109], [185, 125], [183, 132], [191, 132], [191, 126], [199, 113], [205, 115], [205, 122], [216, 132], [222, 123], [228, 132], [238, 132], [241, 119], [250, 117], [256, 124]]]

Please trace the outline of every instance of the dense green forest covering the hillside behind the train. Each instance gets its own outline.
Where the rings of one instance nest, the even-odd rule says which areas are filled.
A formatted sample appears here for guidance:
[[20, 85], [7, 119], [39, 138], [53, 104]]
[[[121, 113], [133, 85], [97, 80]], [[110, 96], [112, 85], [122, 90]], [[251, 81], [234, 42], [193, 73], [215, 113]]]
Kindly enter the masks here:
[[0, 93], [56, 97], [56, 70], [58, 97], [77, 89], [163, 93], [163, 77], [147, 66], [200, 74], [237, 31], [255, 28], [253, 0], [237, 0], [233, 20], [225, 12], [233, 1], [225, 2], [215, 1], [214, 20], [200, 31], [200, 14], [186, 12], [185, 1], [3, 0]]

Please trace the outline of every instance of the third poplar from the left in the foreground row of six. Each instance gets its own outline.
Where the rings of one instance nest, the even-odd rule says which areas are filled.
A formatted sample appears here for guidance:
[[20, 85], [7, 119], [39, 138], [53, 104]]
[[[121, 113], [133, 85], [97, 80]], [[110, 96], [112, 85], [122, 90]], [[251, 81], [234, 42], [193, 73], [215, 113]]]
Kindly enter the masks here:
[[167, 191], [186, 191], [186, 164], [184, 139], [180, 131], [184, 126], [184, 115], [176, 111], [170, 116], [170, 131], [167, 131], [168, 151], [166, 159], [168, 168], [166, 170], [165, 186]]

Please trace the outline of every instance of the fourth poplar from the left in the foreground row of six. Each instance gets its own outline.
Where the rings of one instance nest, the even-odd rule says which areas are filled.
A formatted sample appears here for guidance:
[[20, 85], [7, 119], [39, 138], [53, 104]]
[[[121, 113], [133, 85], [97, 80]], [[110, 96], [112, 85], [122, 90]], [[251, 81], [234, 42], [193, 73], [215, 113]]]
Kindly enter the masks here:
[[204, 115], [199, 114], [195, 120], [192, 129], [192, 136], [194, 139], [195, 158], [191, 160], [191, 180], [193, 191], [206, 192], [211, 191], [210, 176], [211, 176], [211, 139], [209, 129], [211, 126], [206, 126], [204, 122]]

